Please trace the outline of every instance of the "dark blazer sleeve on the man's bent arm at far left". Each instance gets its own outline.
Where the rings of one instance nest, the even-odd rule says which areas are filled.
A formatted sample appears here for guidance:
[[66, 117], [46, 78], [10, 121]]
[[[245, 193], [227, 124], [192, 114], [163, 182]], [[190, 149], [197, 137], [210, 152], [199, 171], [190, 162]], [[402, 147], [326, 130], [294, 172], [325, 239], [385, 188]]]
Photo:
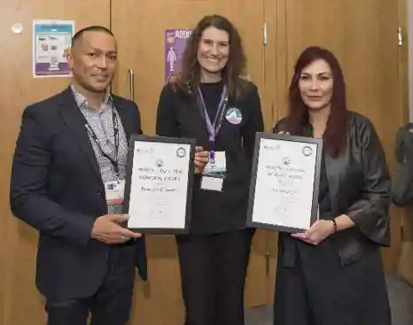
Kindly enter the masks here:
[[74, 215], [47, 197], [52, 139], [43, 111], [37, 108], [27, 107], [22, 116], [12, 161], [12, 213], [48, 236], [65, 238], [73, 244], [87, 244], [95, 219], [89, 215]]

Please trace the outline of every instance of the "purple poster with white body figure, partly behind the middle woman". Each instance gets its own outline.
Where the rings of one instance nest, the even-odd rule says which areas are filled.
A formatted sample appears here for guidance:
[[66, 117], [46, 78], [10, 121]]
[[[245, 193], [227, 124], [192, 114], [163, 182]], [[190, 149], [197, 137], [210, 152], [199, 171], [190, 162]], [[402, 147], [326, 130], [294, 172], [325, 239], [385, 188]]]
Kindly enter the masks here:
[[191, 37], [189, 29], [167, 29], [165, 31], [165, 82], [179, 73], [183, 50]]

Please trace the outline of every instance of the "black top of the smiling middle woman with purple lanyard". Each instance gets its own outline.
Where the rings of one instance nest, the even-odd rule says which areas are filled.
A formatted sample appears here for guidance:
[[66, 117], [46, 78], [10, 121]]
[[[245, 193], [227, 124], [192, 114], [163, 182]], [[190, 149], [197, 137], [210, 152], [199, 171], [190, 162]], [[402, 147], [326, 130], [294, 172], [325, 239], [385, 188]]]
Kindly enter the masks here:
[[[245, 81], [245, 92], [239, 99], [229, 98], [226, 112], [238, 108], [242, 120], [238, 124], [222, 119], [222, 128], [216, 135], [214, 150], [225, 151], [227, 173], [222, 191], [200, 190], [201, 176], [194, 182], [191, 231], [217, 233], [245, 228], [248, 191], [253, 159], [255, 134], [263, 131], [261, 101], [258, 89]], [[214, 120], [222, 97], [223, 82], [200, 85], [207, 112]], [[208, 140], [203, 109], [196, 95], [166, 85], [160, 94], [156, 132], [160, 136], [194, 138], [197, 145], [212, 150]]]

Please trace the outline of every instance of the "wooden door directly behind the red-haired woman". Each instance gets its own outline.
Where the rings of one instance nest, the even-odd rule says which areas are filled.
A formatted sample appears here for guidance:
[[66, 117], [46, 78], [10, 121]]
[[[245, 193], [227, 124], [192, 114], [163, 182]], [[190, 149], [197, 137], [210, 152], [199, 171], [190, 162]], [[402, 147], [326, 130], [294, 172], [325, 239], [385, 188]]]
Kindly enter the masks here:
[[[403, 118], [397, 1], [277, 0], [276, 4], [275, 28], [269, 31], [269, 37], [277, 40], [275, 116], [285, 115], [286, 90], [300, 52], [310, 45], [323, 46], [343, 67], [348, 109], [361, 112], [374, 123], [393, 171], [394, 135]], [[383, 257], [386, 270], [395, 272], [401, 249], [401, 213], [394, 206], [391, 223], [392, 247], [383, 250]], [[271, 251], [272, 259], [275, 256]]]

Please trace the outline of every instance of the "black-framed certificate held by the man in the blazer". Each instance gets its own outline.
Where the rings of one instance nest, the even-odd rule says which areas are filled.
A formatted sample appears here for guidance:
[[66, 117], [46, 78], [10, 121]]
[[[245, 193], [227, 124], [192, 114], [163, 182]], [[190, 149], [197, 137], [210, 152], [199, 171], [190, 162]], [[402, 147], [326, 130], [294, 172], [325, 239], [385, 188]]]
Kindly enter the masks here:
[[140, 233], [186, 233], [191, 221], [195, 140], [131, 135], [123, 213]]

